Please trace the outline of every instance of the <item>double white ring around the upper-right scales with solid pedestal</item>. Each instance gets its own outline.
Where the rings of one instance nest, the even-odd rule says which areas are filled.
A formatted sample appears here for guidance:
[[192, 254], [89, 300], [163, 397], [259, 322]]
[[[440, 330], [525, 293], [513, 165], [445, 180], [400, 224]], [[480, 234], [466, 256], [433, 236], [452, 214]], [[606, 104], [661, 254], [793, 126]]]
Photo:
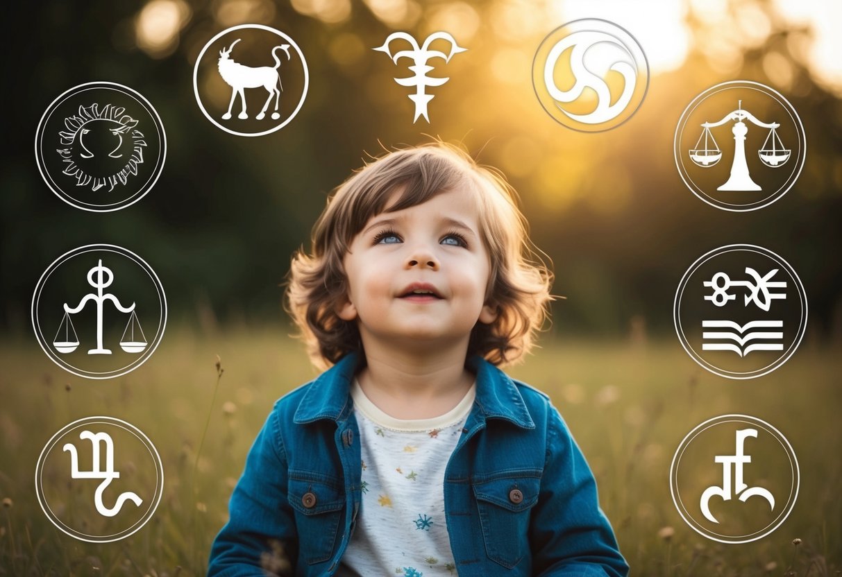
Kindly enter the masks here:
[[[701, 104], [706, 98], [712, 96], [715, 93], [715, 91], [718, 92], [717, 88], [728, 87], [729, 85], [739, 85], [739, 86], [733, 86], [733, 87], [744, 87], [744, 88], [749, 88], [749, 89], [753, 89], [753, 90], [759, 90], [759, 92], [769, 91], [769, 92], [765, 93], [766, 96], [770, 96], [771, 98], [774, 98], [775, 100], [780, 98], [784, 103], [786, 103], [786, 106], [789, 107], [789, 109], [786, 110], [786, 113], [789, 114], [790, 117], [794, 117], [794, 119], [797, 121], [796, 122], [797, 129], [800, 129], [799, 130], [799, 133], [800, 133], [799, 136], [801, 138], [798, 140], [798, 142], [802, 145], [802, 155], [801, 155], [801, 159], [800, 159], [801, 163], [798, 166], [797, 171], [793, 173], [793, 174], [795, 174], [795, 176], [791, 177], [792, 182], [789, 183], [789, 186], [786, 186], [786, 188], [784, 188], [784, 190], [782, 192], [779, 189], [777, 192], [775, 192], [770, 197], [765, 199], [765, 201], [764, 200], [757, 201], [758, 203], [763, 203], [763, 204], [759, 204], [759, 206], [751, 206], [749, 204], [749, 205], [742, 205], [744, 208], [732, 209], [732, 208], [728, 208], [727, 206], [722, 206], [721, 204], [717, 204], [716, 202], [713, 202], [712, 199], [706, 198], [707, 197], [706, 194], [704, 194], [704, 193], [700, 194], [695, 190], [695, 188], [701, 189], [701, 187], [696, 185], [690, 177], [685, 177], [685, 173], [682, 170], [682, 167], [684, 167], [684, 161], [683, 161], [683, 159], [679, 160], [679, 150], [678, 150], [679, 144], [680, 144], [679, 143], [679, 132], [682, 133], [682, 134], [684, 133], [684, 124], [687, 122], [687, 118], [690, 116], [690, 109], [691, 108], [695, 109], [695, 107], [698, 106], [699, 104]], [[749, 85], [749, 86], [746, 86], [746, 85]], [[786, 109], [786, 107], [784, 107], [784, 109]], [[751, 80], [730, 80], [728, 82], [720, 82], [719, 84], [716, 84], [714, 86], [711, 86], [710, 88], [707, 88], [705, 91], [697, 94], [695, 96], [695, 98], [693, 98], [690, 101], [690, 103], [687, 104], [687, 106], [684, 109], [684, 112], [682, 112], [681, 116], [679, 116], [678, 124], [675, 125], [675, 135], [673, 137], [673, 157], [674, 157], [674, 160], [675, 160], [675, 167], [678, 169], [679, 177], [681, 177], [681, 181], [683, 183], [685, 183], [685, 186], [688, 189], [690, 189], [690, 192], [693, 193], [697, 199], [701, 199], [702, 202], [704, 202], [706, 204], [710, 204], [714, 208], [721, 209], [721, 210], [727, 210], [728, 212], [751, 212], [752, 210], [763, 209], [763, 208], [769, 206], [770, 204], [775, 203], [777, 200], [783, 198], [784, 195], [786, 195], [786, 193], [788, 193], [790, 191], [790, 189], [793, 186], [795, 186], [795, 183], [797, 182], [798, 178], [801, 177], [801, 172], [804, 168], [804, 162], [807, 160], [807, 133], [804, 131], [804, 124], [802, 124], [801, 117], [798, 116], [798, 113], [797, 113], [795, 107], [792, 106], [792, 103], [789, 100], [787, 100], [786, 97], [784, 97], [783, 94], [776, 91], [775, 88], [768, 87], [765, 84], [761, 84], [760, 82], [754, 82], [754, 81], [751, 81]], [[688, 182], [688, 180], [690, 182]], [[723, 204], [727, 204], [727, 203], [723, 203]]]

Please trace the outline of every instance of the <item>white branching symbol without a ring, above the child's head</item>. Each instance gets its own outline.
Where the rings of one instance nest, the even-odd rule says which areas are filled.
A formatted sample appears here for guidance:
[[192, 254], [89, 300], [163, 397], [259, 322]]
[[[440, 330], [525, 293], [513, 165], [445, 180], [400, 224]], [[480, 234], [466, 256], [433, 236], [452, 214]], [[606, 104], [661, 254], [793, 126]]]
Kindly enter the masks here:
[[[392, 50], [389, 50], [389, 45], [392, 43], [392, 40], [398, 39], [408, 41], [408, 43], [412, 45], [413, 50], [400, 50], [392, 55]], [[434, 40], [447, 40], [450, 42], [450, 53], [445, 55], [445, 53], [440, 50], [429, 50], [429, 45], [431, 45]], [[397, 61], [402, 57], [412, 58], [415, 62], [413, 66], [409, 66], [409, 70], [415, 73], [414, 76], [408, 78], [395, 78], [395, 82], [401, 86], [415, 87], [415, 93], [409, 95], [409, 99], [415, 103], [415, 118], [413, 118], [413, 124], [415, 124], [415, 121], [418, 120], [418, 116], [424, 116], [424, 119], [429, 123], [427, 103], [433, 99], [433, 95], [424, 93], [424, 88], [428, 86], [441, 86], [450, 80], [450, 77], [433, 78], [427, 76], [427, 72], [433, 70], [433, 66], [429, 66], [427, 61], [429, 61], [430, 58], [441, 58], [445, 61], [445, 63], [450, 62], [450, 58], [452, 58], [454, 54], [457, 52], [464, 52], [467, 49], [457, 45], [453, 36], [447, 32], [434, 32], [433, 34], [430, 34], [427, 37], [427, 40], [424, 40], [424, 45], [421, 47], [418, 47], [418, 42], [406, 32], [392, 32], [392, 34], [389, 34], [388, 38], [386, 38], [386, 42], [384, 42], [382, 46], [373, 50], [385, 52], [390, 58], [392, 58], [392, 61], [395, 64], [397, 64]]]

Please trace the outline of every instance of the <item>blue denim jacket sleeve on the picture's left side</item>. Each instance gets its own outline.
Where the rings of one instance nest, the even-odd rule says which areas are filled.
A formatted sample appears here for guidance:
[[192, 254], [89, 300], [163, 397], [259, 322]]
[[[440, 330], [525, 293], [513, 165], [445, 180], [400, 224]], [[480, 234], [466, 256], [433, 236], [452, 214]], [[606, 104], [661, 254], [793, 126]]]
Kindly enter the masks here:
[[264, 577], [283, 574], [290, 564], [295, 565], [295, 559], [285, 560], [285, 555], [297, 550], [286, 492], [286, 454], [278, 411], [274, 410], [248, 453], [246, 468], [228, 505], [229, 520], [210, 549], [209, 575]]

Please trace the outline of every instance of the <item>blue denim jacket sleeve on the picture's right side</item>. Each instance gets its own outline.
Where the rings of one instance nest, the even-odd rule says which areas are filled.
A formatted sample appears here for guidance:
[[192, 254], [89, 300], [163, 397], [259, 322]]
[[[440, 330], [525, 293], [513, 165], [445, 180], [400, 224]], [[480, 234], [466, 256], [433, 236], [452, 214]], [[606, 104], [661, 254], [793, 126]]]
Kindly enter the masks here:
[[546, 418], [546, 464], [530, 526], [535, 574], [626, 577], [628, 565], [584, 455], [552, 405]]

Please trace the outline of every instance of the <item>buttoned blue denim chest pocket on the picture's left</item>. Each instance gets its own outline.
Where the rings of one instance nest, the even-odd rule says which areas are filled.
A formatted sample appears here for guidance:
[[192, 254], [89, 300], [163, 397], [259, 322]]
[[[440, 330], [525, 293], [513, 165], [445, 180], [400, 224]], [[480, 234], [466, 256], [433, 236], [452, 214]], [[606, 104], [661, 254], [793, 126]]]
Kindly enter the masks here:
[[338, 480], [322, 474], [290, 470], [287, 500], [296, 511], [299, 558], [324, 563], [331, 555], [345, 506]]

